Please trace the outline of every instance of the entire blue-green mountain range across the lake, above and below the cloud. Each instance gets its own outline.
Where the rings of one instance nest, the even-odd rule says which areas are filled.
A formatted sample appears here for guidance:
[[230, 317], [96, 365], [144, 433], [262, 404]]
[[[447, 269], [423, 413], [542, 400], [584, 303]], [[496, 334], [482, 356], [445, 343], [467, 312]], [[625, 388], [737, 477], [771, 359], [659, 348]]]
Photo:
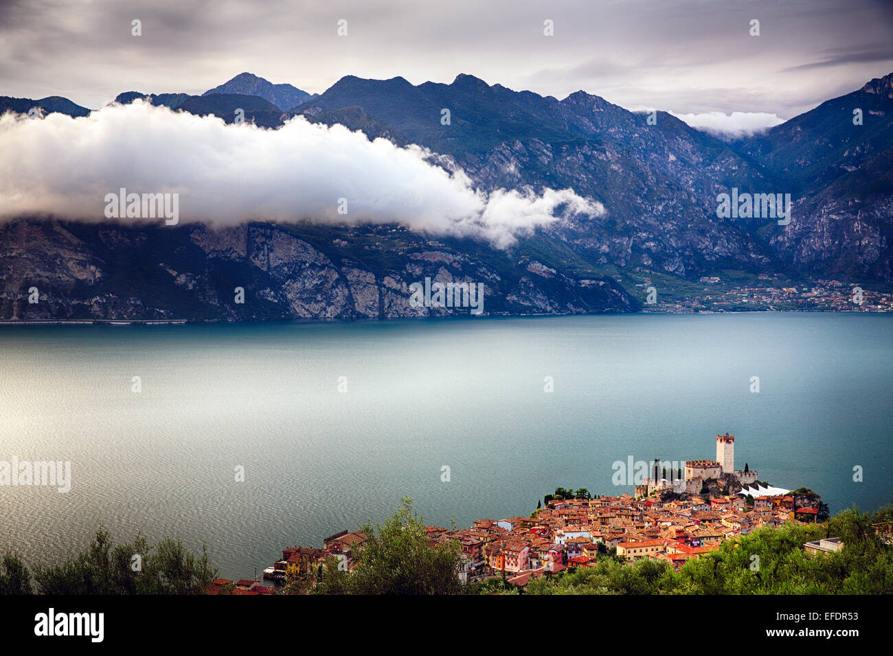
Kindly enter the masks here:
[[[126, 92], [116, 100], [145, 96]], [[685, 288], [704, 276], [783, 273], [893, 286], [893, 73], [732, 141], [667, 112], [630, 112], [584, 91], [558, 100], [470, 75], [417, 86], [346, 76], [310, 95], [242, 73], [203, 95], [147, 97], [227, 122], [241, 108], [246, 120], [271, 129], [296, 115], [342, 124], [446, 155], [480, 189], [572, 187], [606, 212], [555, 222], [508, 251], [472, 239], [432, 240], [396, 225], [256, 223], [175, 228], [173, 248], [157, 228], [23, 217], [0, 226], [0, 317], [452, 313], [405, 303], [408, 284], [425, 276], [486, 280], [485, 311], [509, 314], [635, 311], [643, 286]], [[31, 106], [89, 112], [56, 96], [0, 97], [0, 111]], [[448, 125], [441, 122], [445, 109]], [[790, 194], [789, 225], [718, 217], [717, 196], [733, 187]], [[53, 290], [39, 310], [22, 301], [36, 279]], [[232, 303], [239, 279], [250, 279], [263, 303]]]

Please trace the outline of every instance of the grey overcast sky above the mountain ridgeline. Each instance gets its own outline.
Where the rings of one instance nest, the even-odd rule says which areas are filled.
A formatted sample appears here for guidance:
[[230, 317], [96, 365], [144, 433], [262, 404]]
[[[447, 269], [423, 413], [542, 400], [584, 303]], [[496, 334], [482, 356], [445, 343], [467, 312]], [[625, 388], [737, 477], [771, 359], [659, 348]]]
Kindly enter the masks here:
[[873, 0], [0, 0], [0, 95], [97, 108], [121, 91], [200, 94], [243, 71], [311, 93], [348, 74], [420, 84], [463, 72], [771, 121], [893, 71], [891, 35], [893, 3]]

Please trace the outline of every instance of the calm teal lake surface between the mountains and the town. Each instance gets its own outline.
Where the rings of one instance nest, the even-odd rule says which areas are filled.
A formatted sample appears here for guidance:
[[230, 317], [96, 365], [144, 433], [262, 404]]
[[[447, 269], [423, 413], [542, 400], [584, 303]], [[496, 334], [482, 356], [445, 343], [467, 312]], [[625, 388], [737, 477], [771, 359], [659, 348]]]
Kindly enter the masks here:
[[737, 468], [832, 512], [893, 495], [889, 315], [3, 326], [0, 381], [0, 460], [71, 461], [67, 494], [0, 487], [0, 550], [32, 563], [102, 524], [251, 577], [403, 496], [468, 527], [559, 485], [631, 492], [614, 461], [714, 459], [727, 431]]

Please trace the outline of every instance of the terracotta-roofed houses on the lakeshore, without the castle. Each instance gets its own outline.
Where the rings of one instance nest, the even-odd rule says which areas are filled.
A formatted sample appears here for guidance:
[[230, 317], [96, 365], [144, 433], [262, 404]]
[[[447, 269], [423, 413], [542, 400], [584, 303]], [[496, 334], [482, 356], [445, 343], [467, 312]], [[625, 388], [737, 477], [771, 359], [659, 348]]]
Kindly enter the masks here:
[[[596, 499], [553, 499], [530, 517], [478, 519], [471, 528], [426, 527], [431, 544], [455, 541], [462, 547], [463, 581], [505, 577], [527, 585], [531, 577], [594, 565], [599, 553], [612, 548], [626, 561], [666, 561], [679, 569], [690, 558], [719, 547], [758, 527], [786, 521], [814, 521], [812, 499], [799, 494], [761, 496], [747, 507], [739, 494], [714, 498], [689, 496], [662, 501], [660, 495], [602, 496]], [[366, 536], [342, 531], [327, 537], [321, 549], [288, 547], [264, 577], [305, 575], [331, 559], [352, 569]], [[213, 594], [224, 587], [233, 594], [270, 594], [258, 581], [214, 581]]]

